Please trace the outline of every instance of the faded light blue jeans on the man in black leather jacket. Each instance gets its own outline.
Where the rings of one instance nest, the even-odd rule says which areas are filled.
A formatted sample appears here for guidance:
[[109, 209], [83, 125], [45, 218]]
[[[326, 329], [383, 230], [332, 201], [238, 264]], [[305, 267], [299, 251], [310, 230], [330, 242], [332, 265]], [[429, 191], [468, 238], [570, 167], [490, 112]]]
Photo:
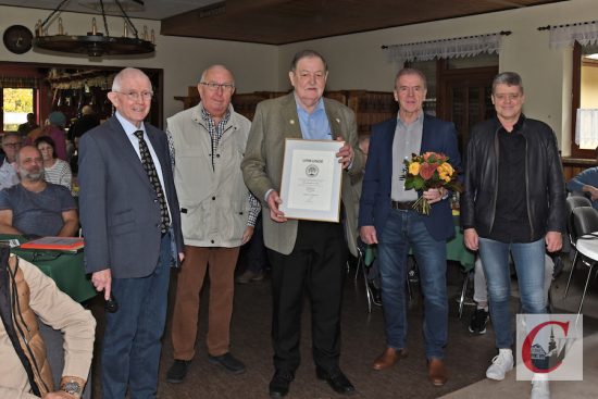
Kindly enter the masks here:
[[544, 238], [534, 242], [501, 242], [479, 238], [479, 257], [488, 285], [490, 317], [499, 349], [509, 349], [513, 342], [509, 252], [518, 273], [523, 313], [546, 312]]

